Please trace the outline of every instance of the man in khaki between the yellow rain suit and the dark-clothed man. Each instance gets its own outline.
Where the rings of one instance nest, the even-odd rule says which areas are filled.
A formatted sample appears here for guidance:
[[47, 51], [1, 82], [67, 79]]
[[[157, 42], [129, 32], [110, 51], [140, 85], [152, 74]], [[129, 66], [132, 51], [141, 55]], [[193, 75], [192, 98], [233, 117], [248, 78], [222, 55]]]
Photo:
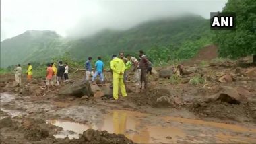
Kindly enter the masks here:
[[139, 68], [139, 61], [132, 57], [131, 55], [127, 55], [127, 59], [131, 61], [133, 66], [133, 72], [134, 72], [134, 79], [135, 79], [135, 85], [136, 85], [136, 92], [139, 92], [139, 88], [141, 87], [140, 79], [141, 79], [141, 69]]

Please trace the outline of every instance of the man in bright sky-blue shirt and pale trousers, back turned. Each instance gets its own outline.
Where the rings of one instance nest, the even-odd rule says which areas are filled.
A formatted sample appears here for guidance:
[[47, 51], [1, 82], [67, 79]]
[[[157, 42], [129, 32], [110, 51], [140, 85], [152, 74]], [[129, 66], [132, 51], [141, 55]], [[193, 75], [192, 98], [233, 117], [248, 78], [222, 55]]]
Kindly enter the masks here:
[[103, 75], [104, 63], [101, 61], [101, 57], [98, 57], [98, 61], [95, 63], [95, 73], [92, 77], [92, 84], [95, 84], [94, 81], [98, 75], [100, 75], [100, 82], [103, 84], [104, 75]]

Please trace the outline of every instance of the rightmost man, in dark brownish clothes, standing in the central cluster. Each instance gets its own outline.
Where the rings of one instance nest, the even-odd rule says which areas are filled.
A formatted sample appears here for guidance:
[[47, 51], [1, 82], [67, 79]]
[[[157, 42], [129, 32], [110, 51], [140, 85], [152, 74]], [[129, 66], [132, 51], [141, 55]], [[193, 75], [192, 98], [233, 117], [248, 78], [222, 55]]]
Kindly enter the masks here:
[[[148, 71], [148, 65], [150, 61], [148, 61], [148, 58], [144, 54], [142, 50], [139, 50], [139, 68], [141, 69], [141, 86], [144, 82], [144, 89], [147, 91], [147, 85], [148, 85], [148, 77], [147, 77], [147, 71]], [[142, 88], [142, 87], [141, 87]]]

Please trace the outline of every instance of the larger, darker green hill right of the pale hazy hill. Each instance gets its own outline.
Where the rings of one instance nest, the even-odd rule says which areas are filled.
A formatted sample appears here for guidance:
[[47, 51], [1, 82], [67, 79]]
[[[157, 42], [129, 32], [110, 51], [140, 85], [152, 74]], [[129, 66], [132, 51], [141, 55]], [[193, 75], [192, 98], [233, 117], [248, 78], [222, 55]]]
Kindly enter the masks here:
[[124, 51], [149, 50], [152, 46], [179, 46], [186, 40], [199, 40], [210, 33], [209, 20], [202, 17], [183, 17], [145, 22], [122, 32], [104, 30], [90, 38], [76, 40], [71, 54], [77, 58], [86, 55], [111, 55]]

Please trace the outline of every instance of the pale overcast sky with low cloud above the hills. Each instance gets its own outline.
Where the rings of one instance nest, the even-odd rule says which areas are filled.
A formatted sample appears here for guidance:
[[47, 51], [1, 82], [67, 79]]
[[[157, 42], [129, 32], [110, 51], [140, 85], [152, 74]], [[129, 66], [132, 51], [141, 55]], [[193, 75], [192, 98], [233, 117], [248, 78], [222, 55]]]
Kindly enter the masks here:
[[61, 36], [88, 36], [104, 28], [124, 30], [181, 13], [210, 18], [227, 0], [86, 1], [1, 0], [1, 41], [26, 30], [54, 30]]

